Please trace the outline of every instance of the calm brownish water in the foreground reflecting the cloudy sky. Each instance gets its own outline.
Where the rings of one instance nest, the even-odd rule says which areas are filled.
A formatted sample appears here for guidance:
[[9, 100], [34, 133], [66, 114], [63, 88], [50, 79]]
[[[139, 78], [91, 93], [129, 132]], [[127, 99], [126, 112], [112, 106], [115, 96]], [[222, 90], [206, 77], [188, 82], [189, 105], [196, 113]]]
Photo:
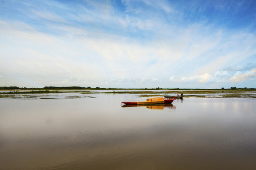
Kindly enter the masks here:
[[95, 98], [0, 98], [0, 170], [256, 169], [253, 98], [83, 95]]

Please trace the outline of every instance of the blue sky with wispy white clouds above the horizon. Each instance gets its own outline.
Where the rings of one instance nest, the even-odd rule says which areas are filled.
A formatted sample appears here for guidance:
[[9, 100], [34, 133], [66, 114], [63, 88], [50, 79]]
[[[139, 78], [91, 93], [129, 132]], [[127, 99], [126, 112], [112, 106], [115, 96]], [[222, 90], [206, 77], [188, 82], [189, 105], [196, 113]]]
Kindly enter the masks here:
[[0, 86], [256, 88], [256, 1], [0, 0]]

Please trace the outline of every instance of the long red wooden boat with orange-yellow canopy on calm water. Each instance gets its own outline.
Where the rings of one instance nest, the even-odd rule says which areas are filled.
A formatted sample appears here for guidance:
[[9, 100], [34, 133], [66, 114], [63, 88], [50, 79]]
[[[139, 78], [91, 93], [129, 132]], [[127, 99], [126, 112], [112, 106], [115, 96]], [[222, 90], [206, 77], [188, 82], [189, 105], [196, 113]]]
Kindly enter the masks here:
[[122, 102], [128, 105], [141, 105], [141, 104], [160, 104], [160, 103], [171, 103], [176, 100], [175, 97], [153, 97], [148, 98], [146, 102]]

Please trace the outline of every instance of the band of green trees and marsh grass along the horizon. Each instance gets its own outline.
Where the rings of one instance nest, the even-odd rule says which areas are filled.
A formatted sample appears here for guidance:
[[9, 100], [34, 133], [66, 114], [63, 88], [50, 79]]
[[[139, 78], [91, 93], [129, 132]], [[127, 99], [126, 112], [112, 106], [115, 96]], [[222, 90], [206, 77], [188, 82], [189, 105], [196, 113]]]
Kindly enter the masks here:
[[[18, 88], [18, 89], [17, 89]], [[74, 90], [74, 88], [77, 89]], [[79, 97], [87, 97], [87, 96], [66, 96], [66, 97], [58, 97], [56, 95], [52, 96], [39, 96], [38, 94], [47, 94], [47, 93], [80, 93], [80, 94], [95, 94], [95, 93], [111, 93], [111, 94], [138, 94], [138, 97], [153, 97], [153, 96], [164, 96], [164, 95], [176, 95], [176, 94], [184, 94], [184, 98], [187, 97], [247, 97], [247, 98], [256, 98], [256, 90], [254, 88], [237, 88], [231, 87], [230, 89], [162, 89], [159, 91], [160, 87], [156, 89], [112, 89], [112, 88], [100, 88], [96, 87], [95, 89], [92, 87], [52, 87], [47, 86], [44, 88], [38, 89], [25, 89], [19, 88], [17, 86], [11, 87], [0, 87], [1, 90], [5, 90], [4, 92], [0, 92], [0, 98], [10, 97], [10, 98], [42, 98], [42, 99], [54, 99], [54, 98], [79, 98]], [[7, 89], [10, 89], [9, 92], [6, 92]], [[90, 89], [90, 91], [89, 91]], [[109, 92], [99, 91], [100, 90], [112, 90]], [[94, 91], [97, 90], [97, 91]], [[28, 95], [26, 95], [28, 94]], [[37, 95], [32, 95], [37, 94]]]

